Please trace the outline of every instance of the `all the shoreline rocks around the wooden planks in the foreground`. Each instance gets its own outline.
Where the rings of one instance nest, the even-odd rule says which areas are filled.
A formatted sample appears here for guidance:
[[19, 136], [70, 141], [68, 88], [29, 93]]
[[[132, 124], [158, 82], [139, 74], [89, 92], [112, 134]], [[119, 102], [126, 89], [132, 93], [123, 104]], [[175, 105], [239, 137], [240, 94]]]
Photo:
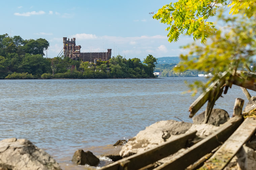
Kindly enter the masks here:
[[[229, 120], [225, 110], [213, 109], [209, 122], [203, 124], [204, 112], [193, 118], [194, 123], [178, 122], [174, 120], [159, 121], [140, 131], [135, 137], [127, 141], [120, 140], [114, 148], [101, 157], [109, 158], [103, 161], [90, 151], [77, 150], [72, 158], [73, 164], [103, 166], [113, 161], [133, 154], [141, 153], [165, 141], [178, 138], [181, 134], [197, 130], [197, 138], [205, 138], [215, 132], [219, 126]], [[127, 142], [127, 143], [126, 143]], [[122, 147], [121, 147], [122, 146]], [[181, 149], [184, 150], [184, 149]], [[256, 136], [243, 145], [225, 170], [254, 170], [256, 167]], [[179, 151], [178, 151], [179, 152]], [[175, 157], [170, 155], [157, 164], [162, 164]], [[26, 139], [4, 139], [0, 141], [0, 170], [61, 170], [59, 164], [44, 150], [33, 145]]]

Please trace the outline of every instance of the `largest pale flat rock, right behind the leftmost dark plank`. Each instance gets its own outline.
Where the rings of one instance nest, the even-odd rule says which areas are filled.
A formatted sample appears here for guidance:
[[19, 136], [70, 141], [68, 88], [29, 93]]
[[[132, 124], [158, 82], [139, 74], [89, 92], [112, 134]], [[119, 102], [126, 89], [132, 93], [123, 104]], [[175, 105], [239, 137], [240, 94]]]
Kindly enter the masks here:
[[218, 127], [210, 124], [193, 125], [174, 120], [159, 121], [145, 130], [140, 131], [135, 137], [129, 139], [120, 151], [120, 156], [127, 157], [141, 153], [144, 150], [157, 146], [165, 141], [179, 137], [181, 134], [197, 130], [196, 135], [203, 138], [212, 134]]

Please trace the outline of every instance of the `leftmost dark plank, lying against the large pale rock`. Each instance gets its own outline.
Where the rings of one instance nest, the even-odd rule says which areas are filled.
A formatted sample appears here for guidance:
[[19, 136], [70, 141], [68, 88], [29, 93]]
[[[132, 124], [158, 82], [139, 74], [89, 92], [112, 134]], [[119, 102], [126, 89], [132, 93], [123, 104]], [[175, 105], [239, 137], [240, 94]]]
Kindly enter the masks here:
[[189, 134], [183, 134], [179, 138], [165, 142], [159, 146], [148, 149], [141, 154], [135, 154], [130, 157], [121, 159], [112, 164], [102, 167], [100, 170], [118, 170], [127, 168], [134, 170], [152, 164], [162, 158], [165, 158], [181, 148], [185, 148], [188, 139], [193, 139], [196, 136], [196, 131]]

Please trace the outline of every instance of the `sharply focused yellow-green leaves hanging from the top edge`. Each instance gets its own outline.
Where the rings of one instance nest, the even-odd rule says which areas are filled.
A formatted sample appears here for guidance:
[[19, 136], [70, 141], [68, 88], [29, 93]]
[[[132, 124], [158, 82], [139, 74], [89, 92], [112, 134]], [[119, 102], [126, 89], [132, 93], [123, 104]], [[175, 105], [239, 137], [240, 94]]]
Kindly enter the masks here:
[[[166, 28], [166, 31], [169, 31], [167, 34], [169, 42], [177, 41], [179, 35], [183, 33], [193, 35], [194, 39], [205, 42], [206, 38], [216, 31], [214, 23], [207, 22], [207, 19], [216, 15], [217, 9], [220, 6], [226, 6], [229, 2], [227, 0], [180, 0], [164, 5], [153, 18], [169, 25]], [[239, 11], [245, 10], [250, 18], [254, 15], [256, 2], [232, 0], [229, 6], [232, 6], [230, 13], [238, 14]]]

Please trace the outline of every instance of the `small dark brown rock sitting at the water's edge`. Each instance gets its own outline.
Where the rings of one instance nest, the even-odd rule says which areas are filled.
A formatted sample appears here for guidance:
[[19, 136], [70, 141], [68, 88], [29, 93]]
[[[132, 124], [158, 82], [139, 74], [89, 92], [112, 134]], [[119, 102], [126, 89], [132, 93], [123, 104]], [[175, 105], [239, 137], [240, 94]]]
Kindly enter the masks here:
[[100, 160], [94, 156], [91, 151], [84, 152], [83, 149], [76, 150], [71, 161], [77, 165], [88, 164], [91, 166], [96, 166], [100, 162]]

